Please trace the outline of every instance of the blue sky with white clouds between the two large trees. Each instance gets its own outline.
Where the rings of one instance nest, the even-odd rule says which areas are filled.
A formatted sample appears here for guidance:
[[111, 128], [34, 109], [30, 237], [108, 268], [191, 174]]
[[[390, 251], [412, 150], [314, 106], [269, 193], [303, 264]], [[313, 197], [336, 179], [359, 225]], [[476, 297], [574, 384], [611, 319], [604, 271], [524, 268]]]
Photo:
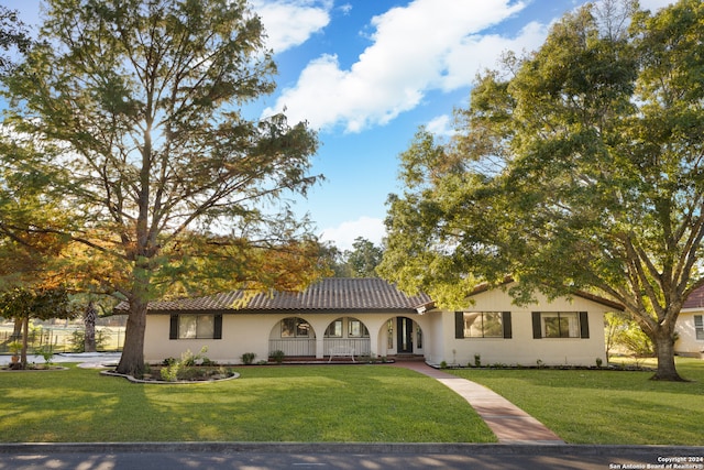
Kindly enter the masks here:
[[[476, 73], [506, 51], [540, 46], [578, 0], [250, 0], [267, 30], [278, 88], [256, 112], [286, 109], [321, 146], [312, 173], [326, 181], [298, 214], [340, 249], [381, 243], [385, 201], [402, 188], [398, 155], [420, 125], [444, 135], [466, 107]], [[657, 10], [671, 1], [641, 0]], [[0, 0], [38, 22], [38, 0]]]

